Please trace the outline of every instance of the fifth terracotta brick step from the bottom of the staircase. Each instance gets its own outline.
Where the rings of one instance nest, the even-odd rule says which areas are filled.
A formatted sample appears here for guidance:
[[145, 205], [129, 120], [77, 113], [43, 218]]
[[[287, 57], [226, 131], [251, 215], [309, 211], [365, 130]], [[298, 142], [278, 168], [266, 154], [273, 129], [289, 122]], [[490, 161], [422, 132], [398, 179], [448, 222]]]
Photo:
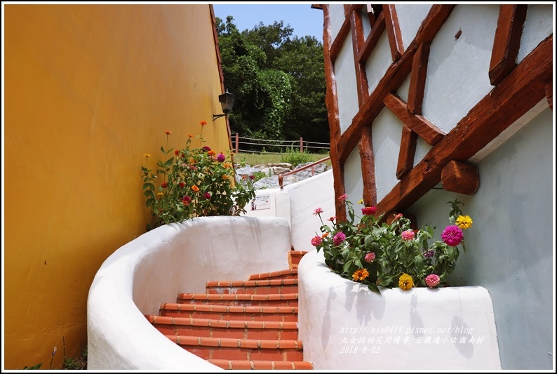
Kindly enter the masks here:
[[178, 293], [178, 303], [189, 304], [221, 304], [221, 305], [267, 305], [297, 307], [297, 293], [267, 293], [265, 295], [250, 295], [236, 293], [229, 295], [214, 295], [210, 293]]

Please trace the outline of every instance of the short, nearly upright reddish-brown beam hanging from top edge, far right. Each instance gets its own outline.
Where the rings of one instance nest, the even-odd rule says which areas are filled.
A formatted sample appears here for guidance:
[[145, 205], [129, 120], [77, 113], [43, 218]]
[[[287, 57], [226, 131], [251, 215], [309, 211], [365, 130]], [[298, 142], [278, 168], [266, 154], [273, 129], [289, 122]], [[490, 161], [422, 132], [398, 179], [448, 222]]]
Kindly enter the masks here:
[[498, 84], [514, 67], [528, 5], [502, 4], [499, 6], [499, 18], [495, 39], [491, 51], [489, 77], [493, 86]]

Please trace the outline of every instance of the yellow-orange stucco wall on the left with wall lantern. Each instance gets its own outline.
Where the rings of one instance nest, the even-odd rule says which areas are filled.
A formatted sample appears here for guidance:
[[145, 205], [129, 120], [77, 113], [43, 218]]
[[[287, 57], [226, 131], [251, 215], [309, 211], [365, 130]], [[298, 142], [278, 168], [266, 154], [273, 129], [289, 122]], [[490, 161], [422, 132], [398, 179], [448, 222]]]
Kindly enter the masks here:
[[[210, 5], [4, 6], [4, 367], [86, 347], [95, 272], [145, 232], [151, 168], [187, 134], [229, 149]], [[114, 310], [114, 313], [117, 313]]]

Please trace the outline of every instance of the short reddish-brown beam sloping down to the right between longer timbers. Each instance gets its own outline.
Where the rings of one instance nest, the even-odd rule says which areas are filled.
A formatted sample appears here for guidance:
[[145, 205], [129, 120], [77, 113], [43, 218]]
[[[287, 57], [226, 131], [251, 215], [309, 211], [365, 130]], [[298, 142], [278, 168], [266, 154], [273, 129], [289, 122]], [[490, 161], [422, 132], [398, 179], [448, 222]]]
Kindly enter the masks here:
[[443, 131], [439, 130], [437, 126], [425, 119], [424, 116], [412, 114], [408, 110], [407, 105], [401, 98], [392, 93], [388, 93], [383, 99], [384, 104], [391, 109], [403, 123], [410, 128], [410, 130], [417, 133], [420, 138], [425, 140], [429, 145], [436, 145], [436, 143], [445, 136]]

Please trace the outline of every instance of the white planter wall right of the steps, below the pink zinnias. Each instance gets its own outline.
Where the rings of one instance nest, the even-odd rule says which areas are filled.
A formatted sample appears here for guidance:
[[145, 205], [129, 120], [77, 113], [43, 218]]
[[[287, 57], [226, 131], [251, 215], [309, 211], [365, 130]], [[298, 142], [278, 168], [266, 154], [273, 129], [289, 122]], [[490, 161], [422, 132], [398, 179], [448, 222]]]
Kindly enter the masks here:
[[367, 286], [333, 273], [323, 252], [298, 265], [304, 361], [328, 370], [500, 370], [493, 307], [483, 287]]

